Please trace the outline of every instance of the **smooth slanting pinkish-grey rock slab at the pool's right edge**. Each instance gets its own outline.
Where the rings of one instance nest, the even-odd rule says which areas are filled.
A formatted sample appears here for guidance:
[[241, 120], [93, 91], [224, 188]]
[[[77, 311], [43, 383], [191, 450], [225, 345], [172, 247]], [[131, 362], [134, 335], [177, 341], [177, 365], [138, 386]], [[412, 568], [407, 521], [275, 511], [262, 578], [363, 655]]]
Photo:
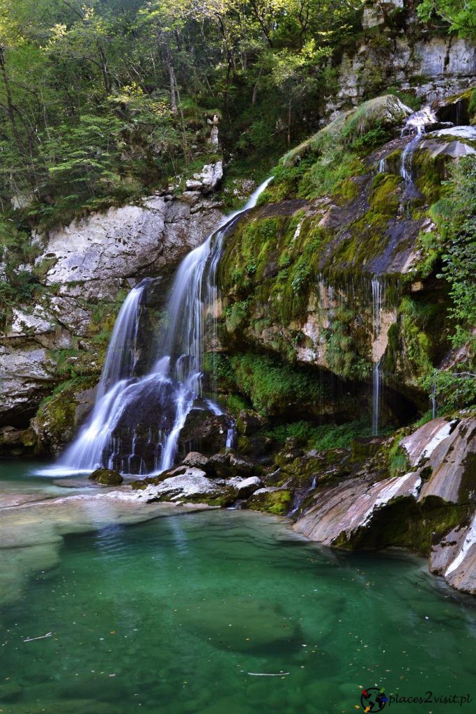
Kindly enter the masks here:
[[410, 471], [317, 488], [295, 530], [324, 545], [420, 550], [432, 572], [476, 593], [476, 418], [435, 419], [400, 447]]

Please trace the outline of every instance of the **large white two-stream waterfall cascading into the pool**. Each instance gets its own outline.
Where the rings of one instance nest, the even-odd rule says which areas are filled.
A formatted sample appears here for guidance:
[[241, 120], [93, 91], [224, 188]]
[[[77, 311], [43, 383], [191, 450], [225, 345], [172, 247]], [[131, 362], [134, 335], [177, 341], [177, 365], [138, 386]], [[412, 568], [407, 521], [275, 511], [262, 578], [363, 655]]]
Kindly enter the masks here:
[[[168, 297], [169, 323], [161, 335], [161, 348], [150, 371], [141, 377], [136, 375], [138, 325], [148, 281], [131, 290], [113, 329], [93, 412], [58, 467], [49, 473], [81, 473], [100, 466], [146, 473], [143, 459], [136, 455], [138, 433], [134, 420], [135, 415], [143, 416], [147, 409], [155, 419], [144, 438], [153, 458], [153, 473], [173, 466], [180, 432], [201, 395], [207, 317], [211, 318], [212, 338], [216, 341], [216, 271], [223, 238], [231, 222], [256, 205], [271, 180], [272, 177], [264, 181], [240, 211], [227, 216], [216, 232], [183, 259]], [[223, 414], [214, 404], [211, 411]], [[130, 432], [130, 446], [123, 443], [120, 427]], [[234, 431], [229, 429], [227, 446], [233, 438]]]

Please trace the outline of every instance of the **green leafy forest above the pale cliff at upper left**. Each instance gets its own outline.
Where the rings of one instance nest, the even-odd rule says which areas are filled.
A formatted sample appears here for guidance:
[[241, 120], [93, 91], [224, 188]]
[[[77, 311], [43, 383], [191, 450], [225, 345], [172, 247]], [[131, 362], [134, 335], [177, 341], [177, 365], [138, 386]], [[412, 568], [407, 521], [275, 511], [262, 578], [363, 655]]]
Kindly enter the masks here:
[[213, 150], [214, 115], [228, 153], [278, 156], [362, 4], [0, 0], [0, 210], [48, 227], [133, 200]]

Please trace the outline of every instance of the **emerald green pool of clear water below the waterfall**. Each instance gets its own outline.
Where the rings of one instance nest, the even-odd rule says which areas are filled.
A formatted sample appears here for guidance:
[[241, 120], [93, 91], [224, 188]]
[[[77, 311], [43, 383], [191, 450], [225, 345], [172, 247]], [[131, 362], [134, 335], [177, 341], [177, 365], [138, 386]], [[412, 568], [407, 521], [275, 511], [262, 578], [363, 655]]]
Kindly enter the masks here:
[[475, 610], [421, 560], [242, 511], [66, 535], [60, 555], [0, 610], [2, 713], [350, 713], [374, 685], [474, 697], [389, 711], [474, 710]]

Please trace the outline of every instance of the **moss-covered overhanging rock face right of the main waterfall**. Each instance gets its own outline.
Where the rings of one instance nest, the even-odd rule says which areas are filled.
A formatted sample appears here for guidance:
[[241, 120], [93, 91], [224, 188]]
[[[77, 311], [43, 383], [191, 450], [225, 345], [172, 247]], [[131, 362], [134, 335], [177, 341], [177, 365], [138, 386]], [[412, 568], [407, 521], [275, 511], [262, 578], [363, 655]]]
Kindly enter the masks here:
[[[430, 206], [442, 196], [450, 164], [476, 152], [473, 126], [401, 136], [409, 113], [395, 96], [372, 99], [289, 151], [283, 164], [299, 178], [278, 174], [263, 196], [268, 203], [233, 226], [220, 266], [221, 343], [229, 352], [245, 345], [274, 353], [312, 367], [323, 385], [333, 374], [345, 381], [338, 382], [342, 391], [367, 402], [368, 411], [370, 400], [355, 390], [382, 379], [383, 422], [390, 423], [408, 423], [412, 411], [426, 408], [422, 377], [450, 348], [448, 298], [425, 248], [436, 232]], [[437, 124], [430, 111], [424, 114]], [[320, 195], [325, 162], [330, 166], [332, 159], [328, 147], [384, 124], [395, 139]], [[434, 319], [423, 326], [417, 315], [425, 309]], [[307, 395], [301, 403], [312, 413]], [[260, 409], [253, 396], [252, 402]], [[337, 407], [333, 397], [333, 416], [342, 420]], [[332, 413], [322, 395], [316, 410]]]

